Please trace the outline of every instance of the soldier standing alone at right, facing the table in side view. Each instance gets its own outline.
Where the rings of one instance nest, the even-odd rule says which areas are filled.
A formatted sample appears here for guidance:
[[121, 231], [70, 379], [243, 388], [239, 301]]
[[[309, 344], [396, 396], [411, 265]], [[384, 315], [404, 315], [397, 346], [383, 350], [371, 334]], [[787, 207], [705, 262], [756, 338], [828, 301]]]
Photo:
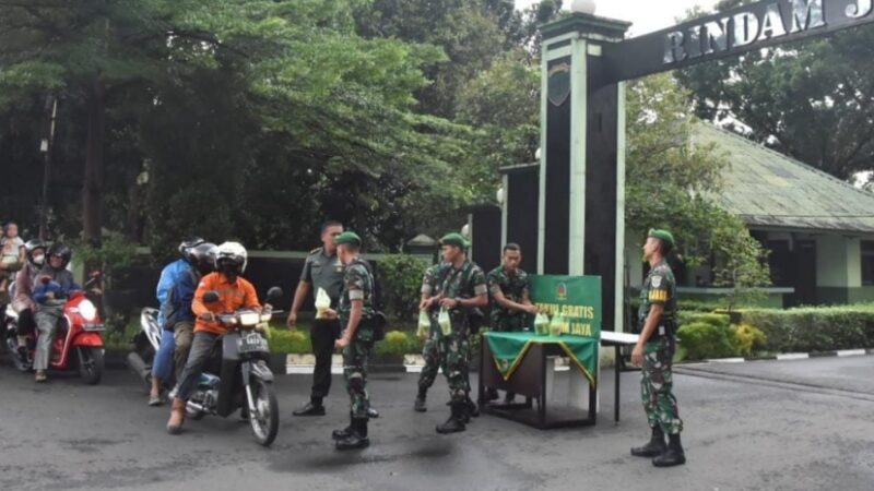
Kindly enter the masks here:
[[[640, 292], [638, 313], [640, 339], [631, 354], [631, 361], [642, 367], [640, 397], [652, 429], [649, 443], [631, 448], [631, 455], [654, 457], [656, 467], [685, 464], [686, 457], [680, 441], [683, 421], [672, 393], [672, 364], [676, 348], [676, 282], [665, 256], [674, 248], [674, 237], [665, 230], [651, 229], [643, 246], [643, 260], [650, 272]], [[665, 445], [664, 435], [669, 443]]]

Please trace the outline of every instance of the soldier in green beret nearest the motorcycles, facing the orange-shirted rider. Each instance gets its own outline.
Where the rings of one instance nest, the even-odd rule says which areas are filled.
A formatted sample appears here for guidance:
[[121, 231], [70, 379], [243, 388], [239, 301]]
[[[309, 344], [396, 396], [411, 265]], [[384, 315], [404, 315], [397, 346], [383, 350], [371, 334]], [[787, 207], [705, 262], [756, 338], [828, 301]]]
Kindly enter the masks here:
[[350, 396], [350, 426], [332, 434], [338, 450], [364, 448], [370, 398], [367, 394], [367, 360], [374, 347], [374, 275], [358, 258], [362, 240], [352, 231], [336, 238], [336, 255], [345, 266], [338, 316], [343, 335], [336, 347], [343, 350], [343, 378]]

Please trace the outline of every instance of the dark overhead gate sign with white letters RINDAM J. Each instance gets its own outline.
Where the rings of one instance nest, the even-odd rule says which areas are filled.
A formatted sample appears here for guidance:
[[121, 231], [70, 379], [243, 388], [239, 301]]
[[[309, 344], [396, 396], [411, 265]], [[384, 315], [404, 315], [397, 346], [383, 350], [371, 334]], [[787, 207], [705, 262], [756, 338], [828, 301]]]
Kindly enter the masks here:
[[615, 83], [874, 22], [874, 0], [765, 0], [604, 47]]

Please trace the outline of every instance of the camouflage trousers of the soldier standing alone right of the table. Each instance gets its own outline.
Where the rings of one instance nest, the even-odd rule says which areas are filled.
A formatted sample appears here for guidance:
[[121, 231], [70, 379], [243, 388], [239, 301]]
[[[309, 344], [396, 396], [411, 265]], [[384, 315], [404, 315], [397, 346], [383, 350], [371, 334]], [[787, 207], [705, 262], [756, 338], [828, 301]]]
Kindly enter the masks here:
[[675, 342], [664, 336], [652, 339], [643, 347], [643, 378], [640, 381], [640, 399], [650, 428], [660, 426], [666, 434], [683, 431], [683, 421], [672, 393]]

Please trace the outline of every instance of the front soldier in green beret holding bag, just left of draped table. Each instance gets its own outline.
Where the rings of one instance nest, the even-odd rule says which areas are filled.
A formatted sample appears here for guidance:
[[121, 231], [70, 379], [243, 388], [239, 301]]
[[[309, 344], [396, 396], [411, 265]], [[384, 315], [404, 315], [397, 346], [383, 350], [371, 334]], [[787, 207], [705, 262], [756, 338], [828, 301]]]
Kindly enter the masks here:
[[444, 261], [448, 265], [440, 273], [440, 296], [430, 299], [432, 308], [446, 308], [451, 320], [451, 332], [447, 335], [437, 331], [437, 346], [440, 368], [449, 383], [451, 416], [446, 423], [437, 427], [438, 433], [464, 431], [464, 422], [470, 419], [471, 384], [468, 376], [470, 364], [470, 324], [472, 309], [488, 303], [488, 289], [485, 274], [480, 266], [468, 261], [464, 249], [468, 241], [459, 233], [449, 233], [440, 239]]

